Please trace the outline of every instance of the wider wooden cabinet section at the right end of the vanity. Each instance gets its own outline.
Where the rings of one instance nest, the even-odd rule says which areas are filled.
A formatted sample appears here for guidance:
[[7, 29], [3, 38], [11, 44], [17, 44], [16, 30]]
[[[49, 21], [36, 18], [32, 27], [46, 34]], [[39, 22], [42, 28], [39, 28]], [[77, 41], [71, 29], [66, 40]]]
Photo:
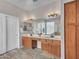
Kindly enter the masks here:
[[55, 55], [60, 57], [61, 55], [61, 46], [60, 40], [41, 40], [42, 42], [42, 50], [51, 55]]

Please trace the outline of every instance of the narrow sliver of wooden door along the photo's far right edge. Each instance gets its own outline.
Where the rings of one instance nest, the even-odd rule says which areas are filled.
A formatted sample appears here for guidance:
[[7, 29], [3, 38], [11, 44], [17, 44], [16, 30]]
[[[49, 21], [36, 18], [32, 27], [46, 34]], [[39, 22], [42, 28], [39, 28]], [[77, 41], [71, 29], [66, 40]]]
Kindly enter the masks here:
[[79, 0], [77, 1], [77, 59], [79, 59]]

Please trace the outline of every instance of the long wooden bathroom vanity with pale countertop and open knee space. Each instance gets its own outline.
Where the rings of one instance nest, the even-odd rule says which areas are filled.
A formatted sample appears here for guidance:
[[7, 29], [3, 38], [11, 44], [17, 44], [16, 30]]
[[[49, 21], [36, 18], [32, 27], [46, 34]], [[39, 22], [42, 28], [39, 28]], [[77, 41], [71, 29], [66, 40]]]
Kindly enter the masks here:
[[23, 36], [22, 42], [24, 48], [40, 48], [43, 52], [50, 55], [55, 55], [58, 57], [61, 55], [61, 40], [58, 38]]

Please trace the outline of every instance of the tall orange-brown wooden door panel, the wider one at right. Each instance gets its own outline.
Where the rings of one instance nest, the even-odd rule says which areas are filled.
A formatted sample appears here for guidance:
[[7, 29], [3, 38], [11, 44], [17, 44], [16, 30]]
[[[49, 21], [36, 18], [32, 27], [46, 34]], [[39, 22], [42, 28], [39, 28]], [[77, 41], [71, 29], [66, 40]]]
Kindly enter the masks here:
[[76, 59], [76, 2], [66, 3], [65, 17], [65, 59]]

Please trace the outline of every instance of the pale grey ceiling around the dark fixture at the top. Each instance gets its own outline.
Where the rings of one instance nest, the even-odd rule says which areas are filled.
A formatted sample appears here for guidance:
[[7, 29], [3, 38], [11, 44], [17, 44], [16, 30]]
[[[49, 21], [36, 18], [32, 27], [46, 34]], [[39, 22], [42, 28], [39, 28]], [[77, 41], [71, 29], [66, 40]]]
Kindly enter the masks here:
[[23, 10], [32, 11], [42, 6], [48, 5], [57, 0], [6, 0], [8, 3], [13, 4]]

